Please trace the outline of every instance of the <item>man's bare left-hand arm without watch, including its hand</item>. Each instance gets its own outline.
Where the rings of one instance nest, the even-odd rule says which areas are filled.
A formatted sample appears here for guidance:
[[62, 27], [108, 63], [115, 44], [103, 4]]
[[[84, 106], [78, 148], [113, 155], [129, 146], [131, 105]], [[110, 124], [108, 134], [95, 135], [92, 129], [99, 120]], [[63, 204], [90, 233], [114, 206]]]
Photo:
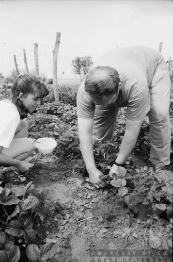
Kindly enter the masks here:
[[96, 188], [104, 188], [108, 185], [108, 183], [105, 180], [99, 179], [99, 176], [102, 175], [102, 173], [96, 168], [94, 161], [92, 140], [93, 121], [93, 118], [82, 119], [78, 117], [80, 150], [92, 184]]

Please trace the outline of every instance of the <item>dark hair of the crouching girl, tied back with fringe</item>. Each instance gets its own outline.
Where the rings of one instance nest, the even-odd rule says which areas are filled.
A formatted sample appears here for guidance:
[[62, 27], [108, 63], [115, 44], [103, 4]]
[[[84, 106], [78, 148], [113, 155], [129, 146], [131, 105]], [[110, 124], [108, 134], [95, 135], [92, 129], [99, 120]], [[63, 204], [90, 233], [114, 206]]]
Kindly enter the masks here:
[[31, 74], [19, 75], [13, 82], [12, 88], [12, 103], [16, 105], [17, 110], [20, 114], [20, 119], [27, 117], [28, 110], [23, 106], [22, 101], [19, 99], [20, 93], [24, 95], [34, 94], [35, 91], [39, 93], [36, 98], [44, 98], [48, 95], [48, 89], [44, 83]]

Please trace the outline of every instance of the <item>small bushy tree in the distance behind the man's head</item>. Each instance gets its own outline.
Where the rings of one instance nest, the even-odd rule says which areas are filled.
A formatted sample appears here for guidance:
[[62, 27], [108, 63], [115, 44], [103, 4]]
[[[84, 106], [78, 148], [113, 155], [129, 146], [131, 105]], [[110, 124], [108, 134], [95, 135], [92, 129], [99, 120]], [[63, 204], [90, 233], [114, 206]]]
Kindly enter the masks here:
[[88, 73], [88, 69], [93, 65], [91, 56], [77, 56], [72, 60], [73, 71], [76, 75], [80, 76], [82, 81]]

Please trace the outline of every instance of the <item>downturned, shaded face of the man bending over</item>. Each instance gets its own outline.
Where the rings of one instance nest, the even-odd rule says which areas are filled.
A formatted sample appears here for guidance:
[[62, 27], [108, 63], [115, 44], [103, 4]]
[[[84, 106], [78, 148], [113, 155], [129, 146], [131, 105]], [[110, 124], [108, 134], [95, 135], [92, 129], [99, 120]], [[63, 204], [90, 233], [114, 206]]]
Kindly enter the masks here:
[[110, 96], [101, 96], [100, 98], [93, 98], [96, 105], [101, 105], [103, 108], [106, 108], [109, 104], [113, 104], [118, 99], [119, 91]]

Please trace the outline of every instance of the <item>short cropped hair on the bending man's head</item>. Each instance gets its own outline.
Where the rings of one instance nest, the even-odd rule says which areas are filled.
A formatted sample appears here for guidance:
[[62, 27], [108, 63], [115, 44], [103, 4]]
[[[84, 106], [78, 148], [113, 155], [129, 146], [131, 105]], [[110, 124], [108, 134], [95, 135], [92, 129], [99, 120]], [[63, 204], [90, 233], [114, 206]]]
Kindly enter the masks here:
[[85, 79], [85, 91], [91, 96], [110, 96], [118, 92], [119, 74], [111, 66], [97, 66], [91, 69]]

